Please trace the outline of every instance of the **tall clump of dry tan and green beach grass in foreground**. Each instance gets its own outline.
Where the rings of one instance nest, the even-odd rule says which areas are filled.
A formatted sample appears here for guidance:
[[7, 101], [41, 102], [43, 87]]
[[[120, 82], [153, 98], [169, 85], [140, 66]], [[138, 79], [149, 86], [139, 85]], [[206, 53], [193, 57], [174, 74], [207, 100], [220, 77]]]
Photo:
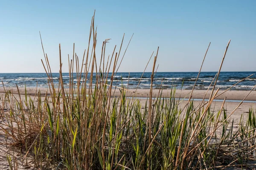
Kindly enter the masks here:
[[[52, 81], [47, 54], [42, 60], [49, 78], [49, 95], [38, 90], [35, 95], [28, 95], [26, 90], [25, 94], [6, 90], [2, 96], [0, 111], [4, 121], [0, 130], [20, 149], [24, 166], [29, 155], [36, 168], [54, 170], [222, 169], [248, 167], [256, 159], [255, 113], [250, 109], [247, 122], [241, 121], [239, 128], [234, 129], [230, 119], [234, 111], [226, 113], [225, 99], [219, 111], [210, 110], [220, 95], [214, 88], [221, 67], [211, 84], [209, 101], [195, 106], [192, 90], [186, 106], [180, 108], [181, 99], [175, 99], [175, 88], [168, 98], [162, 96], [161, 88], [157, 96], [152, 94], [157, 49], [149, 97], [142, 104], [136, 98], [137, 89], [131, 92], [112, 86], [124, 56], [120, 54], [122, 43], [118, 52], [115, 47], [107, 58], [105, 40], [97, 63], [96, 36], [93, 17], [81, 65], [75, 51], [69, 58], [69, 88], [64, 88], [62, 81], [59, 46], [58, 86]], [[95, 75], [90, 74], [94, 70]], [[115, 93], [119, 96], [114, 97]], [[133, 97], [127, 97], [128, 93], [133, 93]], [[17, 169], [11, 153], [7, 159], [10, 168]]]

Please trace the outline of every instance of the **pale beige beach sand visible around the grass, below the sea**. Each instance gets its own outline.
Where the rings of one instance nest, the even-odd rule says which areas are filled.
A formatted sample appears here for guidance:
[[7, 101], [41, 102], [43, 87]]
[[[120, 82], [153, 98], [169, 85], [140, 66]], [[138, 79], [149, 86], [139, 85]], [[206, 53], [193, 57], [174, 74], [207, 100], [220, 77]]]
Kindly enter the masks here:
[[[12, 91], [12, 93], [16, 94], [15, 96], [18, 97], [18, 90], [17, 88], [6, 88], [6, 91], [10, 90]], [[27, 94], [33, 96], [33, 95], [38, 95], [38, 91], [40, 90], [41, 92], [41, 96], [45, 96], [46, 94], [49, 95], [49, 89], [47, 88], [38, 88], [37, 89], [37, 93], [35, 92], [35, 88], [26, 88], [27, 90]], [[135, 91], [135, 89], [131, 89], [131, 91]], [[145, 107], [145, 102], [146, 102], [146, 98], [147, 96], [149, 96], [149, 89], [138, 89], [136, 92], [136, 94], [134, 92], [128, 91], [127, 92], [127, 96], [128, 97], [137, 97], [138, 100], [140, 100], [141, 102], [141, 107], [144, 108]], [[186, 103], [187, 100], [189, 98], [191, 90], [176, 90], [175, 93], [175, 98], [180, 98], [180, 100], [182, 100], [180, 102], [180, 108], [183, 108]], [[192, 99], [203, 99], [205, 94], [206, 94], [206, 90], [194, 90], [192, 93]], [[221, 94], [223, 91], [218, 91], [218, 94]], [[211, 111], [218, 111], [221, 108], [221, 105], [223, 103], [223, 99], [226, 97], [227, 100], [235, 100], [235, 101], [229, 101], [229, 102], [225, 102], [224, 104], [224, 109], [227, 110], [227, 114], [229, 115], [230, 113], [232, 113], [236, 107], [239, 105], [240, 101], [244, 99], [245, 96], [247, 96], [247, 94], [250, 91], [227, 91], [226, 93], [218, 96], [216, 99], [219, 99], [221, 101], [214, 101], [211, 105]], [[19, 93], [21, 94], [21, 98], [25, 99], [25, 88], [19, 88]], [[162, 91], [162, 97], [169, 97], [170, 96], [171, 91], [170, 90], [163, 90]], [[209, 99], [211, 91], [209, 91], [206, 95], [206, 99]], [[153, 97], [157, 97], [159, 94], [159, 90], [153, 90]], [[218, 95], [217, 94], [217, 95]], [[5, 95], [4, 93], [4, 89], [1, 87], [0, 88], [0, 96], [2, 96], [1, 100], [3, 99], [3, 96]], [[115, 92], [112, 93], [112, 96], [119, 96], [120, 92], [117, 89]], [[18, 99], [18, 98], [17, 98]], [[249, 96], [247, 96], [247, 98], [245, 99], [248, 102], [243, 102], [239, 108], [236, 109], [236, 111], [234, 111], [234, 113], [230, 116], [231, 119], [234, 120], [234, 128], [238, 128], [239, 127], [239, 123], [240, 123], [240, 119], [247, 119], [247, 113], [249, 111], [249, 108], [253, 108], [253, 110], [255, 111], [256, 109], [256, 91], [252, 91], [250, 93]], [[194, 106], [197, 107], [199, 104], [201, 103], [201, 101], [195, 100], [194, 101]], [[0, 101], [0, 106], [3, 107], [1, 101]], [[241, 115], [243, 115], [241, 117]], [[5, 137], [3, 134], [0, 135], [0, 143], [5, 142]], [[9, 147], [6, 146], [5, 144], [0, 144], [0, 168], [1, 169], [9, 169], [9, 164], [8, 161], [6, 159], [6, 154], [7, 153], [14, 153], [14, 155], [17, 158], [17, 162], [19, 164], [19, 168], [18, 169], [33, 169], [32, 167], [23, 167], [20, 163], [19, 160], [21, 160], [21, 155], [19, 154], [18, 150], [15, 151], [13, 149], [13, 147]], [[31, 158], [32, 159], [32, 158]], [[32, 164], [31, 164], [32, 165]]]

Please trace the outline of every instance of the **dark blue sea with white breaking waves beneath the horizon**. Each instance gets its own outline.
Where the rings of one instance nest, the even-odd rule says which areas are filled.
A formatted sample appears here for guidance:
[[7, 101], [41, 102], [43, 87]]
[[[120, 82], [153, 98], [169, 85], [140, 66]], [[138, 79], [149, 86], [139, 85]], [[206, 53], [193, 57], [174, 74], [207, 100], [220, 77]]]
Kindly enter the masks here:
[[[195, 89], [207, 89], [214, 79], [217, 72], [201, 72]], [[256, 85], [256, 72], [221, 72], [216, 88], [227, 89], [239, 82], [241, 79], [248, 79], [240, 82], [231, 90], [251, 90]], [[63, 73], [64, 88], [69, 87], [70, 75]], [[83, 76], [83, 74], [82, 74]], [[90, 76], [90, 73], [88, 74]], [[159, 89], [192, 89], [198, 72], [157, 72], [154, 74], [153, 88]], [[141, 78], [142, 77], [142, 78]], [[110, 84], [111, 74], [108, 77]], [[95, 84], [96, 73], [93, 73], [93, 84]], [[59, 82], [59, 73], [52, 74], [52, 80], [55, 85]], [[73, 81], [77, 83], [76, 73], [73, 74]], [[88, 80], [87, 80], [88, 81]], [[131, 72], [131, 73], [116, 73], [113, 78], [113, 87], [124, 87], [129, 89], [140, 88], [148, 89], [151, 84], [151, 73], [146, 72]], [[48, 78], [45, 73], [0, 73], [0, 87], [49, 87]]]

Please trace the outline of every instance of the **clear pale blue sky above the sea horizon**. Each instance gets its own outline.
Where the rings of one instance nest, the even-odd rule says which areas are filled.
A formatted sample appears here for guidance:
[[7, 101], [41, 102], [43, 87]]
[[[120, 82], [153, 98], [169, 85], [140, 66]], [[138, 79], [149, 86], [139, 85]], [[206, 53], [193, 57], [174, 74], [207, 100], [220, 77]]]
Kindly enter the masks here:
[[120, 72], [143, 71], [158, 46], [158, 71], [198, 71], [209, 42], [202, 71], [218, 71], [230, 39], [222, 71], [256, 71], [255, 0], [0, 0], [0, 73], [44, 72], [39, 31], [52, 71], [61, 43], [68, 72], [73, 43], [80, 59], [87, 49], [94, 9], [97, 49], [111, 38], [110, 54], [123, 33], [124, 46], [134, 33]]

